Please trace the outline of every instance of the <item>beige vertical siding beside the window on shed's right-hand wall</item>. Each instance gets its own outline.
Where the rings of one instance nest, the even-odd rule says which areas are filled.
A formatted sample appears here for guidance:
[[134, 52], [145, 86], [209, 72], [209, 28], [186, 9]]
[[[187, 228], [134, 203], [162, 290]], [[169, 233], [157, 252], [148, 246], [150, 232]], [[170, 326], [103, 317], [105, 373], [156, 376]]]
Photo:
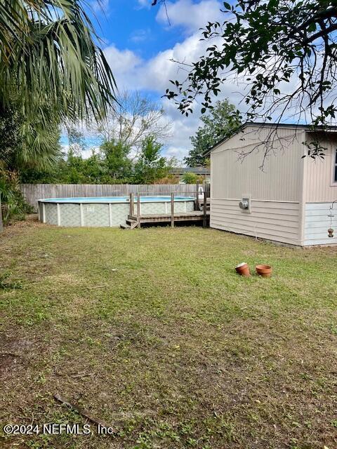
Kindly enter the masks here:
[[[310, 135], [307, 135], [310, 141]], [[320, 140], [322, 147], [327, 148], [324, 159], [305, 158], [304, 201], [306, 203], [322, 203], [337, 199], [337, 184], [333, 184], [333, 157], [337, 148], [337, 138]], [[330, 239], [331, 240], [331, 239]]]

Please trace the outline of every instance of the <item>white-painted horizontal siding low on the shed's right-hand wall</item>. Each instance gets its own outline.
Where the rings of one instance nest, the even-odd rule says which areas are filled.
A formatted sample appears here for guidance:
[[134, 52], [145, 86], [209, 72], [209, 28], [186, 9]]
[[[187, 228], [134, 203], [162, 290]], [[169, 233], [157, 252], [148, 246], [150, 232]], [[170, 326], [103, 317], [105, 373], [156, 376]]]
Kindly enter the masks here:
[[[337, 208], [333, 210], [331, 225], [330, 206], [329, 202], [305, 204], [304, 246], [337, 243]], [[328, 237], [329, 227], [335, 229], [333, 238]]]

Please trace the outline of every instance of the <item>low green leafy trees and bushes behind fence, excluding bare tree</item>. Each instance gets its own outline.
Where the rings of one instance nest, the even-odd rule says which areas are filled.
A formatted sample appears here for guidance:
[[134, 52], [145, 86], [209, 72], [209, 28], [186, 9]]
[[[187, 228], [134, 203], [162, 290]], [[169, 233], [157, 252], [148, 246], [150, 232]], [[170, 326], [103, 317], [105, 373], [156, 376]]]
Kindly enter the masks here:
[[170, 170], [173, 159], [161, 155], [162, 145], [153, 135], [147, 135], [136, 158], [131, 159], [130, 147], [122, 142], [103, 142], [91, 156], [84, 158], [78, 144], [70, 145], [57, 163], [46, 170], [26, 168], [20, 172], [24, 183], [43, 184], [153, 184], [174, 182]]

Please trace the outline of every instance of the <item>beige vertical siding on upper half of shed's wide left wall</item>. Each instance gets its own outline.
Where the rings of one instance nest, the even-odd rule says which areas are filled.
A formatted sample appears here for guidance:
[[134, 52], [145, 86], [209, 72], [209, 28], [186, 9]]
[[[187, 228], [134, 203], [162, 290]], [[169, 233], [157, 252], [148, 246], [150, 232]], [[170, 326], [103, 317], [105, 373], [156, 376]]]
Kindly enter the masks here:
[[[213, 199], [240, 198], [250, 194], [254, 200], [300, 201], [303, 180], [304, 132], [293, 128], [277, 130], [273, 152], [263, 166], [270, 128], [247, 127], [211, 152]], [[240, 152], [251, 152], [239, 159]]]

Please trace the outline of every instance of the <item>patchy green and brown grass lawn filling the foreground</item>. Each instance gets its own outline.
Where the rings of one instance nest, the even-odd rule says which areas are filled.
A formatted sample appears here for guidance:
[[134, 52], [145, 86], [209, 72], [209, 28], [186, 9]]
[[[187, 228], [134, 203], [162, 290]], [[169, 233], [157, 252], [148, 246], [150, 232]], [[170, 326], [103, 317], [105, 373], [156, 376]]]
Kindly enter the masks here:
[[[1, 429], [88, 423], [58, 393], [116, 434], [0, 446], [336, 448], [336, 254], [197, 227], [6, 229]], [[275, 275], [243, 279], [242, 261]]]

